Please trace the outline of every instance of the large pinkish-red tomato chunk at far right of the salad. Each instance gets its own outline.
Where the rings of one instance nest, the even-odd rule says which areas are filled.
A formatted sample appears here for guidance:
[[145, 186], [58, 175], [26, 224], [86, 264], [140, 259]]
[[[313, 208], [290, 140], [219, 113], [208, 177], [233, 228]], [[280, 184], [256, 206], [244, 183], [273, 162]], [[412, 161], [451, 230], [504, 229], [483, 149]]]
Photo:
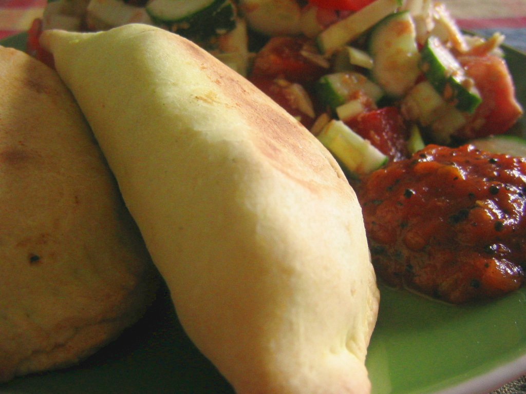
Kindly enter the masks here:
[[469, 139], [504, 133], [522, 115], [508, 66], [503, 59], [492, 55], [464, 56], [459, 61], [482, 97], [482, 103], [460, 131], [460, 137]]

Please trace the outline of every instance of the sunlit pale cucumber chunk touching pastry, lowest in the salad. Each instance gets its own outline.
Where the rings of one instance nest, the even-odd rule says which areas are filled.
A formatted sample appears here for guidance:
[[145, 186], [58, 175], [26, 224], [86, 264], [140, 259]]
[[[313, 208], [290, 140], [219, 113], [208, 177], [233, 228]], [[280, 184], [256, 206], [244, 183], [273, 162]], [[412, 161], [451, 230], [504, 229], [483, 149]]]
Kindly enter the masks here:
[[385, 154], [341, 120], [331, 120], [317, 138], [352, 175], [371, 173], [388, 161]]

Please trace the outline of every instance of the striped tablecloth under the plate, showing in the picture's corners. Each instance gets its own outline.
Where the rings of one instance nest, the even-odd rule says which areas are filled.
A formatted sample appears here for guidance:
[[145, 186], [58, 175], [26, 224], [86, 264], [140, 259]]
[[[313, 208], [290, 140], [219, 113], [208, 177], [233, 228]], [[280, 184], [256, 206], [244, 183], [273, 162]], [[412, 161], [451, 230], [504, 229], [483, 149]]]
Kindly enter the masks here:
[[[447, 5], [461, 28], [488, 37], [493, 32], [501, 32], [506, 37], [506, 44], [526, 53], [526, 0], [442, 2]], [[45, 5], [46, 0], [0, 0], [0, 39], [25, 32], [33, 19], [42, 16]], [[526, 376], [493, 394], [526, 394]]]

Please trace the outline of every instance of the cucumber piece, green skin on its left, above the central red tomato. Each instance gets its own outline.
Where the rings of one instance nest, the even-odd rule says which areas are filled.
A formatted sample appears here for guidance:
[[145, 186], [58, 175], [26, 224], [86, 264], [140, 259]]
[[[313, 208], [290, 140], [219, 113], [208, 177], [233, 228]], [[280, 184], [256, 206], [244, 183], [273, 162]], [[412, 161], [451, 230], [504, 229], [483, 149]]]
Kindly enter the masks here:
[[323, 105], [336, 110], [362, 90], [373, 101], [383, 97], [382, 89], [359, 72], [335, 72], [321, 77], [316, 85], [318, 98]]

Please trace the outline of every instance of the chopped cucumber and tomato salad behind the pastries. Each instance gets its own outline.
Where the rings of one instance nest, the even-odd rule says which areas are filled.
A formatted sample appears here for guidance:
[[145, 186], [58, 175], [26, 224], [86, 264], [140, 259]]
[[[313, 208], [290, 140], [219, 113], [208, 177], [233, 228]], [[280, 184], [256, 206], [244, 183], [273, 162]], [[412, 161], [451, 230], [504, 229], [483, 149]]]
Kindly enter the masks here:
[[42, 29], [128, 23], [183, 35], [246, 76], [351, 178], [428, 143], [502, 134], [523, 112], [504, 37], [462, 32], [432, 0], [55, 0], [29, 49], [41, 52]]

